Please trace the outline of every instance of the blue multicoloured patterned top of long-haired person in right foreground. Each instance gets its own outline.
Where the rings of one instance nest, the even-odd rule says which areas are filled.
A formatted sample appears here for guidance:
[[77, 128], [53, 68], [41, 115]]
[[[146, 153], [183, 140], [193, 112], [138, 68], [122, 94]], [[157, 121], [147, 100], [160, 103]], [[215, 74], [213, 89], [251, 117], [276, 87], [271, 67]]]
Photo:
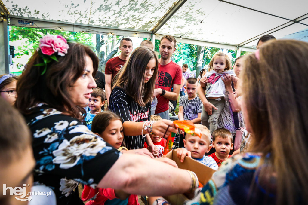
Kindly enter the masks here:
[[254, 195], [250, 199], [254, 200], [254, 203], [251, 201], [245, 203], [246, 200], [249, 200], [250, 187], [260, 164], [261, 156], [256, 153], [245, 153], [228, 159], [202, 189], [196, 190], [195, 197], [187, 200], [184, 204], [264, 204], [262, 200], [266, 197], [268, 200], [265, 204], [272, 204], [274, 197], [262, 193], [260, 187], [254, 190]]

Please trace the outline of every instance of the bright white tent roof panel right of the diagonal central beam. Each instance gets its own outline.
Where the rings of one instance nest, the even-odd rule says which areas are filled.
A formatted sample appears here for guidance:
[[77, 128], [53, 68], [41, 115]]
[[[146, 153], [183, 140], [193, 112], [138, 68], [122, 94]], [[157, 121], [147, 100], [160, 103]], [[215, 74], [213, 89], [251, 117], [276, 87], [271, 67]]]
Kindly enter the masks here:
[[286, 22], [217, 0], [195, 0], [187, 1], [160, 32], [203, 41], [240, 44]]

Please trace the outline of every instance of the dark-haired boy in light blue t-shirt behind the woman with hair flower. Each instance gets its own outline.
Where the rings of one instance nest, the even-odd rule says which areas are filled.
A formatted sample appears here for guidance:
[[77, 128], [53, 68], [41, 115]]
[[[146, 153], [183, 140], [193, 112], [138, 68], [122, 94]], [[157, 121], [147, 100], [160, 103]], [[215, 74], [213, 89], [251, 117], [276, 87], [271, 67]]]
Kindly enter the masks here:
[[87, 116], [84, 119], [84, 124], [87, 125], [89, 130], [92, 127], [92, 120], [95, 115], [102, 110], [102, 107], [105, 105], [106, 94], [105, 91], [101, 88], [94, 88], [91, 92], [91, 98], [89, 98], [88, 107], [90, 111], [87, 112]]

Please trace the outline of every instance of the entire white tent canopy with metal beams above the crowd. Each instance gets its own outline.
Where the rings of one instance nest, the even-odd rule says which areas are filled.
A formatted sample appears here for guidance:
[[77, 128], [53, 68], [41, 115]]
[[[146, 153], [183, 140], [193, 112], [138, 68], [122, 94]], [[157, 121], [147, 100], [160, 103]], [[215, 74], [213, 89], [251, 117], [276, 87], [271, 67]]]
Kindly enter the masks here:
[[152, 39], [170, 34], [178, 42], [238, 51], [253, 51], [258, 38], [265, 34], [308, 41], [307, 0], [4, 0], [1, 3], [0, 0], [2, 17], [9, 18], [12, 26]]

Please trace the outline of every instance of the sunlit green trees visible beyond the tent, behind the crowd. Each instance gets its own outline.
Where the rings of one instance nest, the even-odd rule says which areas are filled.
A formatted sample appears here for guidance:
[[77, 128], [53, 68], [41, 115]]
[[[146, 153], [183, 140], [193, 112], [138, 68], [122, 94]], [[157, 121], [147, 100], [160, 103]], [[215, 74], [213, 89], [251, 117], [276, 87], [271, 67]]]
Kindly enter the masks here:
[[[34, 50], [39, 47], [39, 40], [46, 34], [62, 35], [64, 38], [90, 46], [99, 57], [99, 70], [101, 71], [105, 70], [106, 62], [119, 53], [118, 47], [120, 45], [120, 39], [124, 37], [107, 34], [87, 34], [61, 30], [10, 26], [10, 41], [22, 40], [20, 46], [17, 46], [17, 48], [15, 46], [16, 58], [20, 58], [23, 55], [28, 55], [30, 58]], [[94, 35], [96, 37], [96, 44], [93, 41], [93, 39], [95, 39]], [[144, 38], [144, 40], [145, 39], [146, 38]], [[159, 43], [160, 40], [156, 39], [154, 50], [158, 53], [158, 57], [160, 58]], [[172, 60], [180, 66], [187, 64], [191, 71], [196, 71], [196, 76], [198, 76], [202, 68], [207, 69], [207, 65], [213, 55], [219, 50], [222, 49], [177, 43], [176, 51], [172, 55]], [[236, 59], [236, 51], [226, 51], [231, 54], [231, 62], [233, 64]], [[241, 55], [246, 53], [250, 52], [241, 51]], [[22, 68], [24, 65], [23, 63], [18, 63], [17, 66], [18, 68]]]

